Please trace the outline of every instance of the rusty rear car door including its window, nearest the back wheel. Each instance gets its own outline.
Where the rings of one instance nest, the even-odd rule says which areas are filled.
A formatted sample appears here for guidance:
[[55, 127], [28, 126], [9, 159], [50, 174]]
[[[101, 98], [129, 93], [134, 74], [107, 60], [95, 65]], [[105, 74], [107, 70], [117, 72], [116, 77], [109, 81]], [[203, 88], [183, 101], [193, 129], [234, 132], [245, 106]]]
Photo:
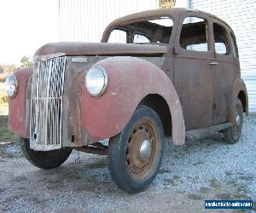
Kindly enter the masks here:
[[[213, 124], [227, 121], [229, 99], [236, 75], [239, 73], [239, 60], [235, 42], [232, 41], [230, 29], [219, 20], [212, 21], [214, 35], [214, 110]], [[234, 50], [232, 50], [234, 49]]]

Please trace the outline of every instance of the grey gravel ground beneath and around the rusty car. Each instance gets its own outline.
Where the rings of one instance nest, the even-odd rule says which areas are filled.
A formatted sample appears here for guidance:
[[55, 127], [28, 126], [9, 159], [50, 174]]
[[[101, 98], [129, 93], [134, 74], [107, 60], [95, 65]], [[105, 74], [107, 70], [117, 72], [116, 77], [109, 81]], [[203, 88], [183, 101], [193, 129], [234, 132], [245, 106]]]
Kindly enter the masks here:
[[205, 212], [205, 199], [255, 201], [255, 130], [256, 116], [250, 116], [235, 145], [224, 144], [220, 134], [182, 147], [166, 138], [160, 172], [138, 194], [114, 185], [106, 156], [73, 151], [60, 168], [40, 170], [26, 161], [19, 144], [1, 145], [0, 212]]

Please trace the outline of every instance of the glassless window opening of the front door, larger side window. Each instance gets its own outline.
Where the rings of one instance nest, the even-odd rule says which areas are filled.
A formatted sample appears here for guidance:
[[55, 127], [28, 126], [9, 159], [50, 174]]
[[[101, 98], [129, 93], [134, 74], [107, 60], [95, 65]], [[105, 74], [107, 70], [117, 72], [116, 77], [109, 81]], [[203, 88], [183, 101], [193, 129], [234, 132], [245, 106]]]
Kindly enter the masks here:
[[207, 52], [207, 21], [197, 17], [187, 17], [183, 21], [183, 27], [179, 39], [183, 49]]

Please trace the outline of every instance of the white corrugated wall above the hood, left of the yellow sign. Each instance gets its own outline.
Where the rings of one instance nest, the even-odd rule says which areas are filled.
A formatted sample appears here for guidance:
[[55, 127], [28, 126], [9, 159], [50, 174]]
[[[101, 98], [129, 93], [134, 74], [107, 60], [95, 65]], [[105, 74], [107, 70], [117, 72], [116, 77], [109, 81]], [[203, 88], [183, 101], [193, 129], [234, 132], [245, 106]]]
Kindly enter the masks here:
[[157, 8], [158, 0], [60, 0], [59, 40], [100, 42], [112, 20]]

